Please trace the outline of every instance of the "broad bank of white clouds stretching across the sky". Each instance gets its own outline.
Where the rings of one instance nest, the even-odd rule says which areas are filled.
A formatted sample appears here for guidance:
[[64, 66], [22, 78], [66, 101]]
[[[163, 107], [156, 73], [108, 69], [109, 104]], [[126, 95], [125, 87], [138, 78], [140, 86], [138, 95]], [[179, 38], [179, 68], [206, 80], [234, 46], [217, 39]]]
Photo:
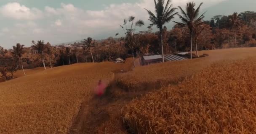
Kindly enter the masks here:
[[[184, 7], [189, 1], [191, 0], [172, 0], [172, 4], [173, 7], [178, 5]], [[224, 0], [194, 1], [197, 6], [200, 2], [204, 2], [202, 8], [205, 8]], [[8, 44], [13, 44], [16, 42], [10, 42], [13, 40], [11, 36], [15, 36], [16, 41], [29, 45], [31, 40], [45, 40], [56, 44], [83, 39], [86, 36], [93, 38], [115, 36], [116, 32], [122, 32], [119, 24], [122, 24], [123, 19], [130, 15], [149, 24], [148, 14], [144, 8], [155, 11], [154, 1], [139, 0], [133, 4], [111, 4], [102, 10], [85, 10], [72, 4], [60, 3], [59, 8], [45, 6], [42, 11], [19, 3], [8, 3], [0, 7], [0, 13], [4, 17], [16, 20], [13, 21], [13, 27], [8, 26], [8, 30], [0, 30], [0, 33], [8, 31], [2, 35], [1, 39], [5, 39]], [[40, 18], [44, 18], [44, 21], [37, 21]], [[147, 26], [144, 26], [144, 29], [146, 28]], [[4, 43], [0, 42], [0, 44]]]

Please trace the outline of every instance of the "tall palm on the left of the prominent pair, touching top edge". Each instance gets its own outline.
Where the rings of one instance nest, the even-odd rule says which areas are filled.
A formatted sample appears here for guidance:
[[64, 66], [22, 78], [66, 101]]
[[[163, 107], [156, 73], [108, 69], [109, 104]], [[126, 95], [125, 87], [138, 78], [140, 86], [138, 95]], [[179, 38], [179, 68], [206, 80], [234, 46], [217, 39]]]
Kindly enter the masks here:
[[151, 11], [147, 10], [147, 13], [149, 14], [149, 21], [151, 21], [151, 25], [156, 25], [157, 28], [159, 28], [160, 35], [161, 35], [161, 48], [162, 48], [162, 57], [163, 57], [163, 62], [165, 62], [164, 58], [164, 52], [163, 52], [163, 25], [165, 23], [170, 22], [173, 18], [174, 15], [178, 13], [173, 13], [177, 8], [172, 8], [171, 0], [168, 0], [165, 7], [164, 7], [164, 2], [165, 0], [158, 0], [155, 1], [155, 13], [152, 13]]

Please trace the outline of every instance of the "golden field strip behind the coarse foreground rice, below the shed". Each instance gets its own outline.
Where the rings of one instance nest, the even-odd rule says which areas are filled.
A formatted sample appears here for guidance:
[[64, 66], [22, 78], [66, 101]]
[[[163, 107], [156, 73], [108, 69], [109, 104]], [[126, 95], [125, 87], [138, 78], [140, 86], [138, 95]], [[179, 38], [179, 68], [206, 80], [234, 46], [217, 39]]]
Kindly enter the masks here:
[[209, 54], [209, 57], [137, 67], [132, 72], [117, 75], [116, 81], [121, 88], [129, 90], [142, 90], [152, 85], [176, 83], [219, 60], [255, 57], [256, 48], [221, 49], [199, 53]]

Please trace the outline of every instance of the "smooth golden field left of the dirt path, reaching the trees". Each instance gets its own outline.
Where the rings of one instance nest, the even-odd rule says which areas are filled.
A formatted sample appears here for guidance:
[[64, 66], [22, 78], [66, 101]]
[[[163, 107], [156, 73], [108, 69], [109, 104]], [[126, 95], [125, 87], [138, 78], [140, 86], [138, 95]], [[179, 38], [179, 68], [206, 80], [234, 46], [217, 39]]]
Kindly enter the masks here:
[[67, 133], [96, 83], [113, 80], [112, 71], [130, 64], [73, 64], [0, 83], [0, 133]]

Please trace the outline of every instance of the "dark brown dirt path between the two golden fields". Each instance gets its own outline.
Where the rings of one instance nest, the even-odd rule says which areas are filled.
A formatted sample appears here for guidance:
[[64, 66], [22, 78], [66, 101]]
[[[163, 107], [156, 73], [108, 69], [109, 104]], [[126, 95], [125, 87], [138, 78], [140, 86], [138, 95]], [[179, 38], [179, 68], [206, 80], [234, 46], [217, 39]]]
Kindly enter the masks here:
[[[144, 93], [125, 92], [113, 84], [101, 98], [95, 96], [89, 103], [86, 101], [81, 104], [80, 112], [69, 134], [99, 134], [99, 131], [106, 132], [115, 129], [116, 131], [112, 133], [127, 134], [121, 123], [121, 108], [133, 98], [140, 97], [141, 94]], [[111, 122], [111, 126], [107, 125], [108, 121]], [[112, 130], [105, 130], [105, 126]]]

